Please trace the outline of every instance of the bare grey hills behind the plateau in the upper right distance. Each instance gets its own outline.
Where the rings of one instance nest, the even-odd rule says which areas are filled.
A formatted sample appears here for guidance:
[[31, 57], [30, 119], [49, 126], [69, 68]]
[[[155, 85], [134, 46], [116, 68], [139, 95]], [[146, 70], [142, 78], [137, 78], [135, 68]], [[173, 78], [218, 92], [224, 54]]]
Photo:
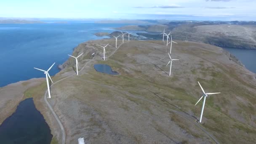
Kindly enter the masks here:
[[[167, 24], [133, 25], [116, 29], [142, 30], [147, 32], [171, 32], [174, 40], [207, 43], [219, 47], [256, 49], [256, 21], [170, 21]], [[160, 40], [159, 34], [137, 35]]]

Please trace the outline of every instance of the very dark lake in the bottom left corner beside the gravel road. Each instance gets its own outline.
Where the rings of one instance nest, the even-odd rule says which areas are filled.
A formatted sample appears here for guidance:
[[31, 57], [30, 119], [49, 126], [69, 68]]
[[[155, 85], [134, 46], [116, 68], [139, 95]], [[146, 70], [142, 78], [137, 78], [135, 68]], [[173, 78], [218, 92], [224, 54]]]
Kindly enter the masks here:
[[0, 144], [50, 144], [51, 130], [32, 98], [21, 101], [0, 125]]

